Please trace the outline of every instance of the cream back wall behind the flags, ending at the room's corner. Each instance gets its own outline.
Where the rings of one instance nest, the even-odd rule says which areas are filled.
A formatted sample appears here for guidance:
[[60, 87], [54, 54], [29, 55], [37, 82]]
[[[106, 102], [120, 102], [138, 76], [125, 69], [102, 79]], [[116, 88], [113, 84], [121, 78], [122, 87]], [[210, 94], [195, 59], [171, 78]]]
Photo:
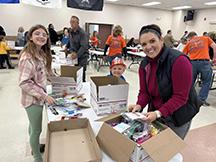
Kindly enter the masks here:
[[53, 23], [56, 30], [69, 26], [71, 15], [77, 15], [84, 27], [85, 22], [120, 24], [127, 38], [138, 37], [143, 25], [156, 23], [166, 32], [171, 28], [172, 12], [155, 9], [145, 9], [131, 6], [116, 6], [105, 4], [102, 12], [77, 10], [66, 7], [63, 1], [61, 9], [45, 9], [25, 4], [0, 5], [0, 24], [6, 29], [8, 35], [16, 35], [19, 26], [25, 30], [34, 24], [48, 26]]

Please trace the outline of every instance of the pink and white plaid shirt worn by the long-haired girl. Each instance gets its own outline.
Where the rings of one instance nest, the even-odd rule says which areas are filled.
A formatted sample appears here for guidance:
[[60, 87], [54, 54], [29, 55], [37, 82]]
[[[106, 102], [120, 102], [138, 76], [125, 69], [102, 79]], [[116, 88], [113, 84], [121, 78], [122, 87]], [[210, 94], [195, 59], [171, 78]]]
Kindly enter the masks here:
[[21, 103], [26, 108], [32, 104], [43, 105], [47, 97], [47, 71], [45, 61], [34, 61], [28, 53], [23, 53], [19, 61], [19, 86], [22, 89]]

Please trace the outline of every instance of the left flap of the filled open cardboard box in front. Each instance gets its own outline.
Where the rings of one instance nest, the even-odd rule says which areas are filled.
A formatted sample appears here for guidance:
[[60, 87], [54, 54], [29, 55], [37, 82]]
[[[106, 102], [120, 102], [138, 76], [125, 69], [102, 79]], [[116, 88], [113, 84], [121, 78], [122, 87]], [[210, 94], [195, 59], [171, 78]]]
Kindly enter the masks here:
[[[115, 138], [113, 138], [115, 137]], [[103, 124], [97, 137], [101, 149], [117, 162], [128, 162], [136, 144], [126, 136]]]

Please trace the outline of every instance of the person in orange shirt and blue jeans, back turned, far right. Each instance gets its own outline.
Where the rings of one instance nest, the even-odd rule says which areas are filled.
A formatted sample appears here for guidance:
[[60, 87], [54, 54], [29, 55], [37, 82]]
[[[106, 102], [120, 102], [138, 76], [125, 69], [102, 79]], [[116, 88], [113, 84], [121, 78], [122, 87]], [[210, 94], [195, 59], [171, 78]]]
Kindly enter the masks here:
[[216, 60], [216, 44], [214, 41], [206, 36], [197, 36], [195, 32], [188, 34], [188, 43], [185, 45], [183, 53], [189, 55], [193, 66], [193, 83], [195, 83], [197, 76], [201, 75], [201, 89], [199, 91], [199, 98], [203, 105], [209, 106], [206, 101], [208, 98], [209, 89], [211, 86], [212, 68], [209, 58], [209, 47], [214, 51], [214, 63]]

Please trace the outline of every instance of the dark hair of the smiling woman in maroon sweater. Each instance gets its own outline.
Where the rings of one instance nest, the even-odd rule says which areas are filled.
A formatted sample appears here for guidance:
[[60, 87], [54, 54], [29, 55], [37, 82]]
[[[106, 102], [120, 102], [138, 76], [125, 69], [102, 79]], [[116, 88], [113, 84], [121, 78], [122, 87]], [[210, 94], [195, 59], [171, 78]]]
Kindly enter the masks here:
[[160, 27], [158, 25], [151, 24], [151, 25], [143, 26], [139, 32], [139, 36], [149, 32], [156, 34], [159, 38], [162, 35]]

